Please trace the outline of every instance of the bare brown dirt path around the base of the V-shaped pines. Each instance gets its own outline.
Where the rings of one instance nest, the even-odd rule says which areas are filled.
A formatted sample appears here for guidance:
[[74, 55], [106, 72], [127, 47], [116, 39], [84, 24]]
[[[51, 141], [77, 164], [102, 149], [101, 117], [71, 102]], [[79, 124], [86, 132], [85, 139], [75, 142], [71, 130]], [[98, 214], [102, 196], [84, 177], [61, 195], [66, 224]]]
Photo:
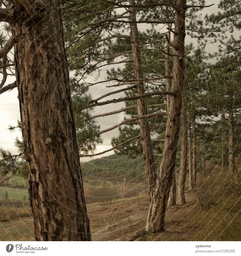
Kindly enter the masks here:
[[[196, 203], [193, 193], [186, 193], [186, 205], [174, 206], [166, 213], [166, 231], [150, 234], [136, 240], [189, 241], [195, 233], [188, 213]], [[131, 202], [89, 211], [93, 241], [129, 241], [146, 225], [148, 199], [137, 198]]]

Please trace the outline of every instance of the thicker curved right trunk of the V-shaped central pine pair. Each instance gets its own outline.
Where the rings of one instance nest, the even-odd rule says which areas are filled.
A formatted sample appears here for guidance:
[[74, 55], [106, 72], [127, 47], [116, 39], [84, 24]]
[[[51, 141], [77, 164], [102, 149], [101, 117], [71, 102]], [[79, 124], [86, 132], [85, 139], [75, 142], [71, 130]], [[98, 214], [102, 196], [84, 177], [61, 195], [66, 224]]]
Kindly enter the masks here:
[[175, 13], [175, 33], [173, 37], [173, 80], [172, 91], [176, 96], [167, 96], [167, 126], [164, 148], [155, 191], [149, 208], [146, 223], [147, 232], [157, 232], [164, 229], [164, 217], [167, 200], [171, 189], [174, 173], [179, 122], [182, 107], [182, 89], [184, 79], [184, 42], [185, 42], [185, 10], [186, 1], [177, 0], [178, 10]]

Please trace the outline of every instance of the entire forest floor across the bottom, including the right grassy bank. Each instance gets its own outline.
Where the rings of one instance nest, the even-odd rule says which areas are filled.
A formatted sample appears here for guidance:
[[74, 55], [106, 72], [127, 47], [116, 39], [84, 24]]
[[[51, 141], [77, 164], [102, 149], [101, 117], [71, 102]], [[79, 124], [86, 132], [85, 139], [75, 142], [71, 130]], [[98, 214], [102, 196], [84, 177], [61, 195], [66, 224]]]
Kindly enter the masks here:
[[[187, 185], [187, 184], [186, 184]], [[165, 231], [135, 241], [240, 241], [241, 189], [228, 172], [213, 172], [187, 192], [186, 204], [167, 209]], [[33, 215], [28, 202], [2, 200], [0, 241], [34, 241]], [[109, 205], [87, 205], [93, 241], [129, 241], [143, 232], [149, 209], [147, 196], [124, 198]]]

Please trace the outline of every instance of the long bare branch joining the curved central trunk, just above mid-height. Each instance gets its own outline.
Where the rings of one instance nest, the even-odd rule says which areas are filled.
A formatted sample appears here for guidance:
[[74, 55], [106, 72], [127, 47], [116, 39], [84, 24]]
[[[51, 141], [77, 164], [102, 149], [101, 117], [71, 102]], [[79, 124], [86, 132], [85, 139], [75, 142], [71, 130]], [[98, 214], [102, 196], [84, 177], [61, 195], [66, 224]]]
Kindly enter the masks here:
[[120, 98], [120, 99], [113, 99], [113, 100], [107, 100], [107, 101], [102, 101], [102, 102], [97, 102], [97, 103], [93, 103], [93, 104], [90, 104], [88, 106], [86, 106], [85, 108], [83, 108], [82, 110], [84, 109], [89, 109], [89, 108], [93, 108], [93, 107], [96, 107], [96, 106], [103, 106], [103, 105], [107, 105], [107, 104], [110, 104], [110, 103], [117, 103], [117, 102], [122, 102], [122, 101], [129, 101], [129, 100], [138, 100], [138, 99], [142, 99], [142, 98], [146, 98], [146, 97], [150, 97], [150, 96], [155, 96], [155, 95], [177, 95], [176, 92], [172, 92], [172, 91], [156, 91], [156, 92], [150, 92], [150, 93], [145, 93], [145, 94], [141, 94], [141, 95], [138, 95], [138, 96], [133, 96], [133, 97], [124, 97], [124, 98]]

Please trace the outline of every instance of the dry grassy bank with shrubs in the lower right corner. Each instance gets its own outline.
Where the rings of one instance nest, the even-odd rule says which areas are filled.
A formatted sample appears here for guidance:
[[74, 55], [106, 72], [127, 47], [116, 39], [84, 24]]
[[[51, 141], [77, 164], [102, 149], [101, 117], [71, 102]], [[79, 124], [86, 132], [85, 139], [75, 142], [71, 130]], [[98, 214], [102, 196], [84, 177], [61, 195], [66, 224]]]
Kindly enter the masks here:
[[240, 188], [237, 176], [227, 171], [216, 169], [199, 179], [194, 191], [198, 203], [189, 213], [189, 223], [198, 227], [192, 240], [240, 241]]

